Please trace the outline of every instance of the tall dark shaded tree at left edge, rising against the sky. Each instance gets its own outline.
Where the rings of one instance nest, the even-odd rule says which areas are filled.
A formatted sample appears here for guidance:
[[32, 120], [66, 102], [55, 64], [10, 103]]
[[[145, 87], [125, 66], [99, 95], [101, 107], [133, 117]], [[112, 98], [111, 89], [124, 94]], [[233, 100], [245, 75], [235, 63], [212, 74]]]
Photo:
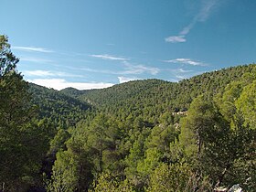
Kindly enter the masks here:
[[40, 185], [39, 170], [49, 135], [37, 123], [28, 85], [16, 72], [18, 59], [0, 36], [0, 189], [26, 191]]

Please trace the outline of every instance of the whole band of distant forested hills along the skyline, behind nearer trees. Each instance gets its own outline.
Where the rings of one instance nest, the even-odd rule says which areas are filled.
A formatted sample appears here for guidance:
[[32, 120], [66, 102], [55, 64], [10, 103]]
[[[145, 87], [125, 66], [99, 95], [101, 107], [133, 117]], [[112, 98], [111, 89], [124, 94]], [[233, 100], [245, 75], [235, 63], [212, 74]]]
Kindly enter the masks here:
[[34, 103], [40, 108], [40, 115], [56, 121], [75, 119], [77, 122], [91, 106], [101, 112], [122, 113], [124, 117], [132, 113], [157, 119], [164, 112], [187, 111], [198, 95], [207, 93], [211, 97], [251, 71], [256, 71], [255, 64], [206, 72], [179, 82], [133, 80], [88, 91], [74, 88], [55, 91], [30, 84], [30, 90]]

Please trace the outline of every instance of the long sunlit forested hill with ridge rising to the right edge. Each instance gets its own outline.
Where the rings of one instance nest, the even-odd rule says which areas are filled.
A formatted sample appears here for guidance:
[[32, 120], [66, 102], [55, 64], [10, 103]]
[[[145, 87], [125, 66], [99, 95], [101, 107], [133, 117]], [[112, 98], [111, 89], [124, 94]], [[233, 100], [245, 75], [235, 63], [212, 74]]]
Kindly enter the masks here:
[[202, 93], [208, 96], [224, 91], [234, 80], [245, 73], [256, 71], [256, 65], [244, 65], [220, 69], [197, 75], [188, 80], [168, 82], [165, 80], [133, 80], [110, 88], [91, 91], [66, 89], [69, 96], [86, 101], [106, 112], [152, 113], [186, 111], [191, 101]]

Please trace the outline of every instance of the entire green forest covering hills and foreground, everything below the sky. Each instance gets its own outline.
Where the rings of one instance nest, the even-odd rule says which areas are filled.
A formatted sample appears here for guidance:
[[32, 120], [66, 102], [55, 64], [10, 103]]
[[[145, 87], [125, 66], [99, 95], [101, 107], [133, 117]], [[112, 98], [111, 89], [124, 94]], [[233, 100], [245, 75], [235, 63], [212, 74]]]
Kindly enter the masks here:
[[17, 62], [0, 36], [0, 191], [255, 191], [255, 64], [55, 91]]

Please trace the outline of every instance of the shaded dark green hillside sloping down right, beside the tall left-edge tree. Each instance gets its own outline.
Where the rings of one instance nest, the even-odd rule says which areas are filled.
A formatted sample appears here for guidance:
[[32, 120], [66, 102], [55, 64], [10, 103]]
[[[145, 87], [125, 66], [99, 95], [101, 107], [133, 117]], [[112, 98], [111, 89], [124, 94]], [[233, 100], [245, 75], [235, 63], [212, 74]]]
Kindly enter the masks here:
[[39, 118], [50, 118], [61, 126], [69, 126], [82, 119], [91, 105], [85, 101], [79, 101], [61, 91], [48, 89], [33, 83], [29, 83], [32, 93], [32, 102], [38, 106]]

